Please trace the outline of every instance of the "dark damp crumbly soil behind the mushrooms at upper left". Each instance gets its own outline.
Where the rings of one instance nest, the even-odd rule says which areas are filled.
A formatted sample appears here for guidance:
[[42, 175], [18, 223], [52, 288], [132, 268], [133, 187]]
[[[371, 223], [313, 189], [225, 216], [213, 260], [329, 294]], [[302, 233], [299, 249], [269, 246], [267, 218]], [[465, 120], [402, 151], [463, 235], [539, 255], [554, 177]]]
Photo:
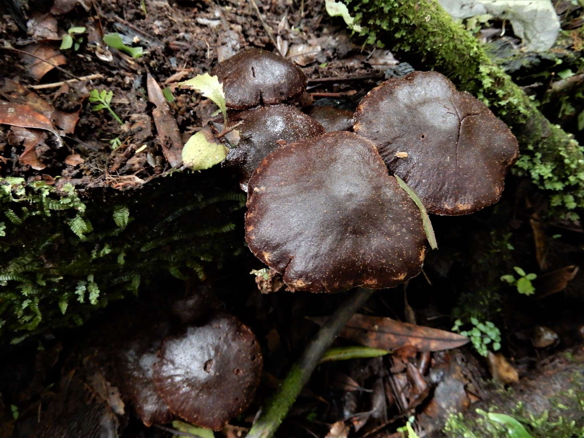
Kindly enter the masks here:
[[[25, 18], [46, 13], [50, 5], [39, 2], [38, 8], [34, 6], [25, 11]], [[338, 96], [334, 103], [354, 108], [364, 93], [384, 77], [384, 71], [391, 74], [398, 64], [387, 50], [361, 50], [356, 44], [358, 41], [349, 40], [344, 26], [326, 14], [321, 2], [304, 2], [300, 14], [297, 8], [293, 2], [272, 2], [269, 8], [260, 6], [260, 11], [280, 51], [296, 61], [308, 78], [372, 77], [311, 82], [308, 92], [348, 92], [350, 96]], [[8, 14], [7, 6], [0, 11], [3, 17], [0, 40], [5, 46], [27, 51], [41, 45], [58, 50], [60, 40], [43, 38], [44, 35], [35, 34], [34, 29], [24, 32]], [[54, 15], [54, 19], [58, 34], [74, 26], [86, 28], [79, 50], [61, 50], [65, 62], [60, 67], [75, 77], [95, 74], [102, 77], [71, 85], [68, 90], [59, 87], [35, 90], [55, 109], [80, 111], [79, 121], [74, 131], [64, 138], [65, 147], [55, 148], [50, 137], [43, 147], [37, 145], [37, 155], [46, 166], [40, 171], [19, 162], [22, 145], [6, 145], [0, 151], [2, 176], [46, 180], [60, 177], [58, 184], [70, 182], [78, 188], [113, 186], [127, 189], [143, 185], [169, 170], [151, 118], [153, 105], [148, 102], [146, 92], [147, 72], [151, 72], [162, 88], [168, 86], [173, 93], [171, 114], [180, 132], [188, 138], [210, 117], [215, 107], [199, 93], [176, 88], [177, 82], [210, 72], [218, 61], [246, 47], [274, 50], [265, 26], [249, 2], [148, 1], [144, 11], [140, 2], [107, 0], [96, 4], [89, 12], [78, 6], [69, 13]], [[145, 54], [131, 58], [115, 49], [107, 50], [99, 36], [110, 32], [123, 35], [127, 44], [143, 47]], [[54, 68], [40, 81], [36, 80], [22, 56], [0, 51], [3, 61], [0, 78], [26, 87], [69, 79], [69, 75]], [[112, 108], [123, 125], [106, 110], [91, 110], [86, 97], [92, 89], [113, 92]], [[0, 140], [8, 133], [8, 126], [0, 126]], [[110, 144], [114, 139], [120, 145], [115, 151]], [[79, 155], [83, 162], [65, 163], [72, 154]]]

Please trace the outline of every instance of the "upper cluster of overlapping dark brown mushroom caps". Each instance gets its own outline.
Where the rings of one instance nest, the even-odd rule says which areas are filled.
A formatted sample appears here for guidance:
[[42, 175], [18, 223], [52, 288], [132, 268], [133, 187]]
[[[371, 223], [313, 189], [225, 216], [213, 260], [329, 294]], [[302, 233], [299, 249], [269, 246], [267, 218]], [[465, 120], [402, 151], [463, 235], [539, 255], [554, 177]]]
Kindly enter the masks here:
[[296, 290], [388, 288], [416, 276], [425, 211], [496, 203], [519, 155], [509, 128], [437, 72], [383, 82], [354, 114], [284, 104], [307, 79], [263, 50], [242, 51], [214, 74], [232, 109], [227, 126], [238, 129], [226, 136], [223, 164], [239, 169], [248, 192], [246, 242]]

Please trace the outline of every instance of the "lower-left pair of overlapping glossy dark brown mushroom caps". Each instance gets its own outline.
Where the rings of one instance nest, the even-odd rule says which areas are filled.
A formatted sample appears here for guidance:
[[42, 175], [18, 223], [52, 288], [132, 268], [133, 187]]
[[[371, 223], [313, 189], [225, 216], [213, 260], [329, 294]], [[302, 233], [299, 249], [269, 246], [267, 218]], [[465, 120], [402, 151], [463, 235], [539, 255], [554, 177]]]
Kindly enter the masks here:
[[114, 349], [115, 380], [146, 426], [182, 418], [220, 430], [251, 403], [262, 352], [234, 316], [215, 312], [174, 333], [166, 321], [140, 324], [134, 334]]

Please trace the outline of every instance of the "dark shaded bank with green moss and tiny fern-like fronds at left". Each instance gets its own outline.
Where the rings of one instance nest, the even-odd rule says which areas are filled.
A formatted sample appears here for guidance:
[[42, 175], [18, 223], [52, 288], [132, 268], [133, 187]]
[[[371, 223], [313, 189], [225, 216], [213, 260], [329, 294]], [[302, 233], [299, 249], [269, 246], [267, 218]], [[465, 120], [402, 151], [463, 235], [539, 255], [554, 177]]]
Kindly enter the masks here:
[[0, 179], [0, 342], [81, 325], [155, 277], [203, 279], [206, 267], [234, 258], [245, 196], [204, 183], [193, 193], [194, 178], [112, 189], [110, 200], [82, 200], [70, 185]]

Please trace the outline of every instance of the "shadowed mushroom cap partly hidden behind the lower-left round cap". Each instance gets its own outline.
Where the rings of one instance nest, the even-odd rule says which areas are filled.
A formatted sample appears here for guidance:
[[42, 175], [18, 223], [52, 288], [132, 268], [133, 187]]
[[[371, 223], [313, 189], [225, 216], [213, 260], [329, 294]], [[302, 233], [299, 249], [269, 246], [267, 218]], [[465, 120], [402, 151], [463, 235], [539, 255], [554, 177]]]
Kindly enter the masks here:
[[168, 331], [168, 324], [145, 327], [134, 333], [133, 340], [121, 343], [114, 353], [121, 392], [146, 426], [169, 423], [175, 418], [152, 381], [157, 352]]

